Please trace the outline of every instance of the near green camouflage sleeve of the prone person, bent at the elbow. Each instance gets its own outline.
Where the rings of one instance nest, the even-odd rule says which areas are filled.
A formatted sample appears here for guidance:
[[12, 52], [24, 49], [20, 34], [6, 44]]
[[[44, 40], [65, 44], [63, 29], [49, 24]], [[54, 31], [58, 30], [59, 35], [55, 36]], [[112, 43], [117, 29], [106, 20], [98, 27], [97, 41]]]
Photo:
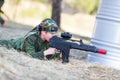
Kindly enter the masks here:
[[44, 50], [41, 49], [39, 52], [36, 52], [34, 42], [35, 42], [34, 37], [26, 39], [26, 41], [24, 42], [25, 52], [27, 52], [28, 54], [30, 54], [34, 58], [44, 59], [44, 53], [43, 53]]

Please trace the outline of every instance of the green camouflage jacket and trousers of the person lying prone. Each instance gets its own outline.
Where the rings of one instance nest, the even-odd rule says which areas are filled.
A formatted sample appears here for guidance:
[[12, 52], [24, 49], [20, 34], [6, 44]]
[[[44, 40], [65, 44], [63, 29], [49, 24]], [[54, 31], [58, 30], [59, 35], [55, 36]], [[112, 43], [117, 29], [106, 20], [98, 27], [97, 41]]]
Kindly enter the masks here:
[[[14, 48], [18, 51], [24, 51], [34, 58], [44, 59], [43, 51], [49, 48], [48, 42], [43, 41], [37, 30], [32, 30], [24, 37], [10, 40], [0, 40], [0, 45], [8, 48]], [[58, 58], [59, 52], [55, 55], [47, 56], [48, 59]]]

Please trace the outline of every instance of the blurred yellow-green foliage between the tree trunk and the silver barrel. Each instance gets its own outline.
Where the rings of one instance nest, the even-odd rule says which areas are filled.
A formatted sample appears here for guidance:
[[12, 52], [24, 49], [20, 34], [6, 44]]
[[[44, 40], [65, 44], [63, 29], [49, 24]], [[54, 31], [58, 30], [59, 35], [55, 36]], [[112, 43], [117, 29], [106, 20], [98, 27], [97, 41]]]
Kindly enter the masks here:
[[74, 9], [93, 14], [98, 9], [99, 0], [71, 0], [67, 4]]

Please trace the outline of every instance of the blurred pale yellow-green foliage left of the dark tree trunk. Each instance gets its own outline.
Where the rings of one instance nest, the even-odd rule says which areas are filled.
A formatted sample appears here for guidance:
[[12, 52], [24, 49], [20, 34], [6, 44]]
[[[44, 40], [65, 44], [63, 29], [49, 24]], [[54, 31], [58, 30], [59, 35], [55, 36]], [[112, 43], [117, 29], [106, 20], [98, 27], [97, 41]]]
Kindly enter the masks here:
[[46, 18], [51, 16], [51, 5], [48, 0], [8, 0], [11, 18], [31, 17]]

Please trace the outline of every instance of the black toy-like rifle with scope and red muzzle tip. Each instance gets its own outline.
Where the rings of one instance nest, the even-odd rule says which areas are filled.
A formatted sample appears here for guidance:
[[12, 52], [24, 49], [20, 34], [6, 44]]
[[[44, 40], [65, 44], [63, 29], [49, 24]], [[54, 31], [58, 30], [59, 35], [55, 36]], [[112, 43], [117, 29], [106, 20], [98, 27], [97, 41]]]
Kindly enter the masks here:
[[[97, 48], [92, 45], [84, 44], [82, 40], [72, 40], [70, 39], [72, 34], [68, 32], [64, 32], [61, 34], [61, 37], [53, 36], [50, 41], [49, 45], [53, 48], [56, 48], [62, 52], [62, 63], [69, 62], [69, 52], [70, 49], [78, 49], [83, 51], [90, 51], [99, 54], [106, 54], [106, 50]], [[75, 43], [79, 42], [79, 44]]]

